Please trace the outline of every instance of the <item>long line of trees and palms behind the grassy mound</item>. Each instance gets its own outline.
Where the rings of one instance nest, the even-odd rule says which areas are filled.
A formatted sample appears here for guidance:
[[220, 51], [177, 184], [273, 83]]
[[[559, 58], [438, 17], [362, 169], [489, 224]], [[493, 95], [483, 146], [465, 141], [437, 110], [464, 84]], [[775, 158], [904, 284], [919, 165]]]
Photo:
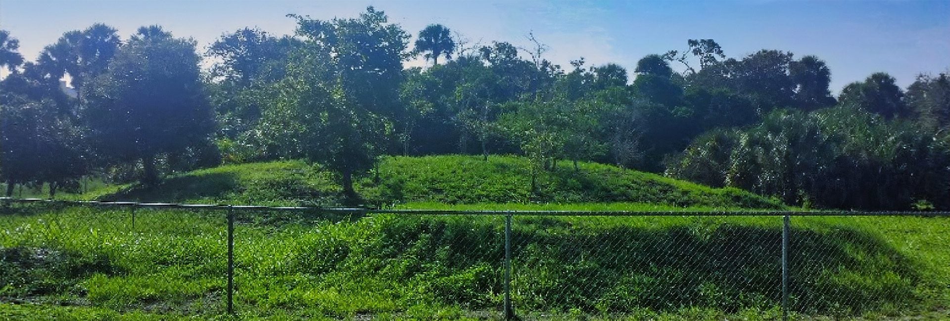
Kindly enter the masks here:
[[[304, 158], [354, 176], [387, 154], [520, 153], [531, 172], [597, 161], [741, 187], [792, 205], [950, 207], [950, 80], [903, 89], [875, 73], [830, 93], [814, 56], [729, 57], [711, 39], [616, 63], [568, 66], [547, 46], [409, 32], [368, 8], [288, 15], [293, 36], [223, 34], [199, 54], [158, 26], [122, 40], [66, 32], [35, 62], [0, 31], [0, 179], [75, 188], [100, 175], [155, 185], [180, 170]], [[214, 61], [201, 70], [202, 55]], [[407, 68], [413, 57], [431, 62]], [[682, 72], [675, 71], [679, 65]], [[60, 88], [68, 75], [78, 95]], [[531, 187], [533, 188], [533, 187]]]

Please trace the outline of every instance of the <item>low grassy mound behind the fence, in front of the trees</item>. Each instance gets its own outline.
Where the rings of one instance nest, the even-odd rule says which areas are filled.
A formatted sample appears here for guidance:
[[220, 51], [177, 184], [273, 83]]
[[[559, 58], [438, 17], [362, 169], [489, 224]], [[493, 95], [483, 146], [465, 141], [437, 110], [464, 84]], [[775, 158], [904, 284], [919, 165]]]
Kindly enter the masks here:
[[[531, 191], [527, 160], [516, 156], [442, 155], [387, 157], [379, 181], [368, 174], [355, 189], [366, 205], [565, 205], [614, 204], [612, 208], [780, 208], [736, 188], [712, 188], [660, 175], [596, 163], [567, 162], [542, 172]], [[333, 173], [301, 161], [277, 161], [201, 169], [165, 180], [159, 187], [102, 189], [85, 195], [105, 200], [211, 202], [255, 205], [338, 205]], [[550, 205], [547, 205], [550, 207]], [[645, 207], [644, 207], [645, 206]], [[524, 208], [524, 207], [523, 207]]]

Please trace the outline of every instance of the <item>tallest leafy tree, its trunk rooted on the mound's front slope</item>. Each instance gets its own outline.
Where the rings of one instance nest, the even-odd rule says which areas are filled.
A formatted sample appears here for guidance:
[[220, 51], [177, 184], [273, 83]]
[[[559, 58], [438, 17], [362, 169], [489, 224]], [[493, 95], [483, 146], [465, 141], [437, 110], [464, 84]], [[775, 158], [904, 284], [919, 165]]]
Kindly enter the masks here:
[[306, 41], [277, 84], [280, 98], [265, 111], [262, 127], [339, 172], [344, 193], [354, 200], [352, 175], [375, 163], [402, 108], [409, 35], [372, 7], [353, 19], [291, 17]]

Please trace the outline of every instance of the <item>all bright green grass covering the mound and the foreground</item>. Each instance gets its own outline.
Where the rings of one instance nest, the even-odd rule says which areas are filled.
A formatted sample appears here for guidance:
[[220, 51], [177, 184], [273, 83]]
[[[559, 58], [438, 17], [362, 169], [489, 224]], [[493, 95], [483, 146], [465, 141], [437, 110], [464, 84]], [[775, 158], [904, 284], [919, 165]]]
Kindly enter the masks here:
[[[519, 189], [520, 169], [505, 165], [519, 165], [515, 157], [429, 160], [437, 168], [390, 158], [380, 183], [367, 177], [359, 190], [401, 208], [781, 207], [739, 190], [596, 164], [548, 173], [542, 191], [530, 193]], [[506, 177], [486, 176], [505, 166]], [[261, 163], [199, 170], [148, 190], [105, 187], [80, 196], [332, 204], [332, 178], [298, 162]], [[491, 192], [466, 192], [482, 188]], [[534, 203], [538, 195], [560, 201]], [[812, 217], [793, 218], [792, 226], [793, 317], [950, 317], [946, 219]], [[220, 211], [140, 209], [133, 227], [127, 209], [11, 206], [0, 216], [0, 319], [501, 316], [500, 216], [241, 213], [235, 317], [223, 313], [225, 231]], [[525, 319], [777, 319], [780, 240], [778, 217], [516, 217], [513, 301]]]

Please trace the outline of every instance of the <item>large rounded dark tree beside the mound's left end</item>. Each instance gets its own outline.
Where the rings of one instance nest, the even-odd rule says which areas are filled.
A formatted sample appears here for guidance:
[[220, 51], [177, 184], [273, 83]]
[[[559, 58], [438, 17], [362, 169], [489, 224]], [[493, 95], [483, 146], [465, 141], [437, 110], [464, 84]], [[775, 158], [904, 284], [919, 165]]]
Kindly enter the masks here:
[[142, 183], [154, 185], [162, 154], [204, 145], [214, 118], [199, 62], [193, 40], [140, 27], [85, 91], [97, 152], [112, 163], [140, 161]]

